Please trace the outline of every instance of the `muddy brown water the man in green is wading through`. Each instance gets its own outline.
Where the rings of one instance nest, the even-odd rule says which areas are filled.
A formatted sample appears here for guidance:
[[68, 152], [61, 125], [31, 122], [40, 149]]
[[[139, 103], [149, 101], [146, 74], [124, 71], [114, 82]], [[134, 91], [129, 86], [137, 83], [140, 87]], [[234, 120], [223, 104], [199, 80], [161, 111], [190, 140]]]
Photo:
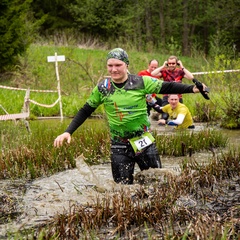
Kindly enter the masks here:
[[[159, 127], [159, 134], [172, 133], [173, 129]], [[204, 126], [199, 125], [196, 131]], [[240, 131], [223, 130], [230, 139], [230, 144], [240, 145]], [[194, 154], [198, 161], [206, 161], [211, 152]], [[180, 172], [179, 163], [182, 158], [161, 157], [163, 168]], [[67, 212], [73, 204], [94, 203], [96, 196], [104, 191], [119, 189], [112, 180], [110, 164], [92, 166], [89, 168], [82, 156], [77, 159], [77, 168], [54, 174], [48, 178], [36, 179], [33, 182], [1, 181], [0, 197], [8, 195], [6, 201], [15, 202], [12, 211], [17, 217], [8, 224], [0, 225], [0, 239], [6, 239], [10, 231], [29, 228], [46, 222], [57, 213]], [[135, 167], [135, 173], [139, 172]], [[129, 186], [134, 191], [138, 185]], [[10, 206], [11, 207], [11, 206]]]

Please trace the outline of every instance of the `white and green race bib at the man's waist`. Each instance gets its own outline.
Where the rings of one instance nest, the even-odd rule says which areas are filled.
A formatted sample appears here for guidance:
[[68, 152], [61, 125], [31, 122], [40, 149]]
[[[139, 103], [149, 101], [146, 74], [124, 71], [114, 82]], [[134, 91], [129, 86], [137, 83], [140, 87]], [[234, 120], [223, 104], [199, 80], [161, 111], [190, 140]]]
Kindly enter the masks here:
[[145, 147], [151, 145], [154, 141], [155, 139], [150, 132], [145, 132], [144, 134], [142, 134], [142, 136], [131, 138], [129, 140], [135, 153], [140, 152]]

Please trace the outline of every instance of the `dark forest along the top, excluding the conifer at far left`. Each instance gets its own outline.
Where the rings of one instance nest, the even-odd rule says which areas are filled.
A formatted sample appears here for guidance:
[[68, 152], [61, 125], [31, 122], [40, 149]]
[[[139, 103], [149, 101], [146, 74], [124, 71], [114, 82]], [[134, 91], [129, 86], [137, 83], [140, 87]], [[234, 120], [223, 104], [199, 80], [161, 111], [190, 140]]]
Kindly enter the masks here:
[[235, 46], [236, 57], [240, 18], [235, 6], [237, 0], [37, 0], [32, 11], [37, 19], [45, 18], [41, 36], [61, 38], [72, 31], [75, 40], [95, 39], [107, 48], [171, 55], [191, 55], [196, 49], [213, 56]]

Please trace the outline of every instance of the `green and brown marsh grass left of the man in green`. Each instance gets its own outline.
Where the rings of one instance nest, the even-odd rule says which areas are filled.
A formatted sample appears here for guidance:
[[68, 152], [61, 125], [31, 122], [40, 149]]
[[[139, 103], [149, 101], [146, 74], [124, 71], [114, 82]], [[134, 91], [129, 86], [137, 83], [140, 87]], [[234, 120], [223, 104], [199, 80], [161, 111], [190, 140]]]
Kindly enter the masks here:
[[95, 128], [97, 123], [94, 121], [77, 131], [69, 146], [54, 148], [55, 137], [66, 129], [68, 122], [32, 121], [31, 133], [20, 122], [17, 125], [3, 122], [0, 130], [0, 178], [35, 179], [74, 168], [75, 158], [82, 153], [92, 164], [109, 155], [106, 126]]

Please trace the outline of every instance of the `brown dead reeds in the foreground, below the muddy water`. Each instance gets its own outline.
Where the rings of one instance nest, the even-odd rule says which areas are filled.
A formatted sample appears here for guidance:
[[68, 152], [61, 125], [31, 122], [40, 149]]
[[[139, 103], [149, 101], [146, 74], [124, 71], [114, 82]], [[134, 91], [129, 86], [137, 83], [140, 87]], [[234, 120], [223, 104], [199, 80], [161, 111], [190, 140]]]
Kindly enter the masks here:
[[235, 148], [207, 165], [186, 158], [180, 175], [71, 206], [28, 239], [239, 239], [239, 157]]

